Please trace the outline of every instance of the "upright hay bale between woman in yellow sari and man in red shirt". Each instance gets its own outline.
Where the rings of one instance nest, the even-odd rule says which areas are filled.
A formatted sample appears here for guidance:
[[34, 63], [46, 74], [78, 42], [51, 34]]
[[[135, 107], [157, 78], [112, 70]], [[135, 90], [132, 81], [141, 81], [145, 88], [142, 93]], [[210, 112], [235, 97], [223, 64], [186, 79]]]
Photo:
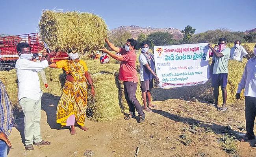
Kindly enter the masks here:
[[[98, 122], [120, 118], [122, 111], [119, 106], [114, 74], [96, 75], [92, 79], [95, 86], [95, 97], [89, 97], [87, 110], [89, 115]], [[88, 94], [90, 93], [88, 92]]]

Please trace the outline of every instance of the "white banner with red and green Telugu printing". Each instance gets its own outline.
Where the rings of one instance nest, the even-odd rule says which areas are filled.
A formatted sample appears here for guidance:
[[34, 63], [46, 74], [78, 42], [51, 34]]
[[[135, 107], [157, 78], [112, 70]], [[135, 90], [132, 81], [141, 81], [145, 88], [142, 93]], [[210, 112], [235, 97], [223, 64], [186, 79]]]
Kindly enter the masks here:
[[160, 88], [204, 84], [209, 80], [208, 44], [154, 46]]

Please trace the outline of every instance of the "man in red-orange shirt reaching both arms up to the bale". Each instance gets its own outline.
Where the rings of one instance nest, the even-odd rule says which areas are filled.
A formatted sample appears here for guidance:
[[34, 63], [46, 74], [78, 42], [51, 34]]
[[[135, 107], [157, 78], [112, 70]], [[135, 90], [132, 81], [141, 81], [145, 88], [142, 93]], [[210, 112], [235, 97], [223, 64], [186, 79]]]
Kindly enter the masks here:
[[139, 121], [143, 122], [145, 120], [145, 113], [142, 110], [142, 106], [137, 100], [135, 93], [138, 85], [138, 77], [136, 71], [136, 53], [135, 47], [137, 46], [137, 41], [134, 39], [127, 39], [125, 48], [115, 47], [107, 38], [105, 38], [108, 46], [115, 52], [120, 53], [121, 56], [111, 53], [104, 47], [100, 51], [108, 53], [108, 55], [116, 60], [120, 60], [119, 69], [119, 80], [124, 81], [124, 97], [128, 103], [130, 114], [124, 117], [128, 120], [135, 118], [135, 108], [139, 114]]

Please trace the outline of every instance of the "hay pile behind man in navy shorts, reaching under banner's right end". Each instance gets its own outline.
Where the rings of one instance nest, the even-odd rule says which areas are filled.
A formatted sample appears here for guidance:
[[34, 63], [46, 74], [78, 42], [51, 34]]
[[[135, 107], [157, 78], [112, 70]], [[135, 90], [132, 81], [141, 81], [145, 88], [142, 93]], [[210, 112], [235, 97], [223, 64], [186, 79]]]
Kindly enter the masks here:
[[[211, 58], [209, 64], [211, 65]], [[245, 65], [247, 63], [246, 59], [243, 62], [238, 62], [236, 60], [229, 60], [228, 62], [228, 84], [227, 84], [227, 100], [226, 102], [236, 101], [236, 91], [238, 84], [241, 81]], [[190, 98], [197, 98], [200, 100], [206, 100], [208, 102], [214, 102], [213, 88], [211, 87], [211, 79], [205, 84], [199, 84], [196, 86], [189, 86], [186, 88], [185, 95]], [[244, 99], [244, 90], [241, 92], [241, 99]], [[222, 102], [222, 91], [219, 88], [219, 104]]]

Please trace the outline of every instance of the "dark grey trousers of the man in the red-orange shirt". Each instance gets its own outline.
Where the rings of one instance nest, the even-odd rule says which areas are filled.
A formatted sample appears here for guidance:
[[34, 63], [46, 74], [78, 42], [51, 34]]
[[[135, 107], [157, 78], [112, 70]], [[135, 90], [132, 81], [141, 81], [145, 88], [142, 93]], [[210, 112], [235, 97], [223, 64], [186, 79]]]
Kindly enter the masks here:
[[137, 85], [138, 83], [124, 81], [124, 97], [129, 106], [130, 113], [134, 113], [136, 108], [136, 111], [138, 112], [139, 116], [141, 116], [145, 113], [143, 112], [142, 106], [135, 95]]

